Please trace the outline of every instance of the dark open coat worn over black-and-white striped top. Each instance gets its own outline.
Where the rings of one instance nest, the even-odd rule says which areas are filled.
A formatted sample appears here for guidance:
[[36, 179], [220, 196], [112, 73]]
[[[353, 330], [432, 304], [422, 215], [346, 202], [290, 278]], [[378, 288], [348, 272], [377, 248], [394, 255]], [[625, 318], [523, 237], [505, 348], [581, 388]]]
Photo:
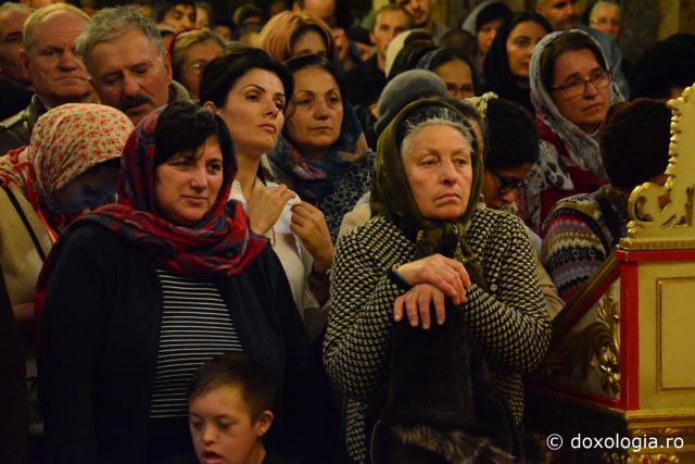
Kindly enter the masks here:
[[[40, 333], [48, 455], [54, 463], [142, 462], [152, 451], [149, 409], [162, 317], [155, 266], [98, 225], [63, 239]], [[213, 281], [244, 351], [280, 392], [268, 448], [289, 455], [315, 450], [327, 429], [328, 393], [277, 256], [266, 247], [238, 275]], [[185, 447], [192, 449], [190, 440]]]

